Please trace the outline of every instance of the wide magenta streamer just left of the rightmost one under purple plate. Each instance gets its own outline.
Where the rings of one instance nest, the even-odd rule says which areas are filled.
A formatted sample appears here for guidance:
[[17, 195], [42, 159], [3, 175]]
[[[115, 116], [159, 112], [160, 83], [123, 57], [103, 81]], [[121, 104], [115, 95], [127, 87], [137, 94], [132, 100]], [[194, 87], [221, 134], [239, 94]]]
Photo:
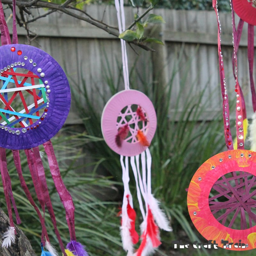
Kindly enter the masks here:
[[55, 232], [57, 239], [60, 243], [60, 249], [63, 252], [63, 255], [67, 256], [67, 254], [65, 252], [65, 247], [62, 243], [62, 240], [60, 238], [60, 233], [57, 228], [57, 223], [56, 223], [55, 214], [54, 214], [53, 208], [52, 208], [51, 198], [50, 198], [50, 195], [49, 195], [49, 192], [47, 189], [44, 167], [43, 167], [43, 164], [41, 163], [42, 160], [40, 157], [39, 148], [35, 147], [35, 148], [33, 148], [33, 150], [31, 148], [25, 149], [25, 153], [26, 153], [27, 160], [28, 160], [28, 167], [30, 170], [30, 174], [31, 174], [31, 177], [32, 177], [32, 180], [34, 183], [34, 187], [36, 189], [36, 195], [39, 199], [42, 209], [44, 209], [44, 207], [46, 205], [48, 212], [50, 214], [51, 220], [52, 220], [54, 232]]

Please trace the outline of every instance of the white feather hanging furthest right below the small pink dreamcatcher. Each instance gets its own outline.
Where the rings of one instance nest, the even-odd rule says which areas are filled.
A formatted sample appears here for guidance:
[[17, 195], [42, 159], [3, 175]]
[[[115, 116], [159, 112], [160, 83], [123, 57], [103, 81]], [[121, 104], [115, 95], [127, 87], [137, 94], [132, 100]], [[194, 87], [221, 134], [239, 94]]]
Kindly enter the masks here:
[[166, 231], [172, 231], [172, 228], [169, 226], [169, 221], [166, 218], [164, 212], [159, 207], [159, 201], [151, 194], [149, 195], [148, 200], [149, 208], [156, 220], [156, 224], [159, 228]]

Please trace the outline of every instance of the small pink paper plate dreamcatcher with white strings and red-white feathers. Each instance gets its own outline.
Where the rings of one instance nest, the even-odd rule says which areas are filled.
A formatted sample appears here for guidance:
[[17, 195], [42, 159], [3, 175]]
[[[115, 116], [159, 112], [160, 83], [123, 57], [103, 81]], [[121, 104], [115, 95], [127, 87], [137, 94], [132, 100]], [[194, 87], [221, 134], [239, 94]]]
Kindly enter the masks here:
[[[125, 30], [123, 4], [118, 0], [115, 4], [119, 32], [122, 33]], [[171, 228], [151, 193], [151, 155], [148, 146], [156, 131], [156, 112], [144, 93], [129, 89], [127, 55], [125, 41], [122, 39], [121, 46], [125, 90], [107, 102], [101, 116], [101, 130], [108, 146], [120, 155], [123, 171], [124, 197], [120, 228], [123, 248], [129, 256], [147, 256], [161, 244], [159, 228], [167, 231], [171, 231]], [[134, 174], [143, 217], [140, 226], [141, 244], [135, 253], [133, 247], [139, 242], [139, 235], [135, 229], [136, 212], [129, 189], [129, 164]]]

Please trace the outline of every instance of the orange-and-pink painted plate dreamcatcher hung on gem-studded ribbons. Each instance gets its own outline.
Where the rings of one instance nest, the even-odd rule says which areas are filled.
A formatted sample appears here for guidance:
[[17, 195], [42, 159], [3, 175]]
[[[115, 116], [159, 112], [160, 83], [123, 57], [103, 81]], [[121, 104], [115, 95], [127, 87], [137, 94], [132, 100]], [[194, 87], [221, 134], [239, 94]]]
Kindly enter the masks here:
[[[213, 0], [218, 21], [218, 53], [220, 84], [223, 98], [224, 134], [228, 151], [212, 156], [193, 176], [188, 188], [188, 211], [197, 230], [218, 246], [229, 250], [256, 248], [256, 152], [244, 149], [244, 130], [247, 128], [245, 104], [237, 77], [237, 34], [233, 3], [233, 63], [236, 92], [236, 148], [230, 132], [227, 84], [221, 52], [221, 28], [217, 1]], [[249, 4], [249, 3], [248, 3]], [[250, 8], [252, 7], [249, 4]], [[253, 7], [252, 7], [253, 8]], [[254, 9], [254, 8], [253, 8]], [[244, 12], [242, 12], [244, 17]], [[253, 13], [255, 14], [254, 10]], [[256, 21], [256, 16], [250, 20]], [[249, 61], [250, 62], [250, 61]], [[253, 86], [254, 87], [254, 86]], [[253, 88], [254, 89], [254, 88]], [[246, 127], [244, 127], [246, 126]]]

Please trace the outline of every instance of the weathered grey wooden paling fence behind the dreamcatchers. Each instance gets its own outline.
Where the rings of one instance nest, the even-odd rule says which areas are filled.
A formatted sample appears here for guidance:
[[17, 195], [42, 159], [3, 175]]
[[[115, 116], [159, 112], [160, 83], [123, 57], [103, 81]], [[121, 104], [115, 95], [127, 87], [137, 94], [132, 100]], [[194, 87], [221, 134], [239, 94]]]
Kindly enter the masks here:
[[[113, 6], [105, 8], [105, 6], [89, 5], [86, 11], [96, 19], [103, 20], [110, 25], [116, 26], [117, 24], [116, 10]], [[127, 25], [132, 23], [136, 11], [135, 8], [125, 7]], [[142, 11], [139, 10], [140, 13]], [[40, 12], [44, 12], [44, 10], [40, 10]], [[152, 53], [138, 47], [132, 49], [127, 45], [129, 69], [131, 71], [134, 68], [133, 75], [130, 77], [132, 84], [137, 84], [141, 88], [143, 80], [147, 81], [148, 86], [152, 86], [156, 74], [160, 74], [159, 82], [168, 83], [173, 70], [176, 70], [173, 79], [170, 117], [172, 117], [180, 90], [183, 90], [179, 103], [179, 108], [182, 109], [182, 104], [188, 95], [196, 99], [199, 93], [205, 89], [202, 104], [204, 115], [201, 118], [213, 118], [216, 111], [219, 111], [222, 106], [215, 12], [155, 9], [154, 13], [162, 15], [166, 23], [155, 31], [153, 27], [149, 27], [148, 33], [154, 33], [162, 39], [164, 46], [157, 47], [155, 45], [157, 52]], [[230, 13], [220, 13], [220, 21], [229, 98], [235, 99]], [[237, 21], [238, 19], [236, 23], [238, 23]], [[95, 106], [101, 112], [103, 103], [100, 100], [100, 95], [104, 95], [106, 99], [110, 97], [107, 78], [111, 76], [117, 83], [120, 75], [120, 41], [84, 21], [57, 12], [31, 23], [29, 28], [38, 35], [32, 44], [51, 54], [60, 63], [71, 78], [71, 86], [74, 86], [74, 83], [81, 86], [82, 80], [86, 81], [92, 100], [97, 102]], [[246, 29], [244, 26], [238, 53], [238, 77], [246, 98], [247, 113], [250, 116], [252, 104], [248, 82]], [[25, 34], [23, 28], [18, 28], [20, 43], [26, 42]], [[188, 78], [184, 81], [186, 74], [188, 74]], [[124, 88], [122, 80], [119, 88], [120, 90]], [[100, 102], [98, 103], [98, 101]], [[66, 123], [79, 124], [80, 122], [76, 106], [72, 103]]]

